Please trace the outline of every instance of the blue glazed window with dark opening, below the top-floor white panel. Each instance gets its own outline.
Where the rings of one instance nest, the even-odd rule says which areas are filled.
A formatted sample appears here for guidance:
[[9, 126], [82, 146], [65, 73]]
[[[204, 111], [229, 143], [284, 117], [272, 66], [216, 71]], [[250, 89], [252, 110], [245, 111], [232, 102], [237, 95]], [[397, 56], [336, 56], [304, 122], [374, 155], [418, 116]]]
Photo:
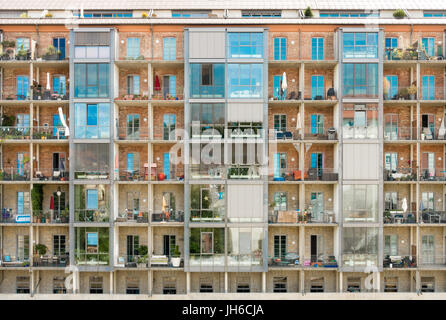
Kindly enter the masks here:
[[225, 66], [224, 64], [190, 65], [192, 99], [224, 98], [225, 96]]

